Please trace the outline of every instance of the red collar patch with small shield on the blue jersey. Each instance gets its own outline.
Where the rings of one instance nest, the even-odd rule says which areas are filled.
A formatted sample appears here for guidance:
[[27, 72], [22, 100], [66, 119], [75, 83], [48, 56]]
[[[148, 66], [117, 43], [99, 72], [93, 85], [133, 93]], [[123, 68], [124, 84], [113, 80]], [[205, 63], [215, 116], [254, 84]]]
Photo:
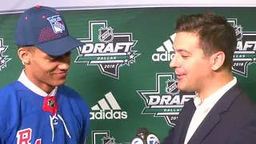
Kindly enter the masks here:
[[54, 96], [47, 96], [44, 99], [43, 105], [42, 105], [43, 111], [48, 111], [51, 114], [55, 115], [58, 110], [58, 105], [56, 102], [56, 99]]

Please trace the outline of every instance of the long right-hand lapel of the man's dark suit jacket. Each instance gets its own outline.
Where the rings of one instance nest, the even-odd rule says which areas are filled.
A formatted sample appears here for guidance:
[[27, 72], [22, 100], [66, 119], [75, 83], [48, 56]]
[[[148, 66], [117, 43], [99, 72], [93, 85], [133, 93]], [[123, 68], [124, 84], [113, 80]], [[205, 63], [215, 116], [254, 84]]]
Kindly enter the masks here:
[[214, 126], [221, 121], [220, 115], [228, 110], [234, 99], [240, 94], [242, 90], [238, 85], [234, 85], [226, 92], [214, 105], [212, 110], [207, 114], [206, 118], [202, 121], [198, 129], [194, 132], [188, 144], [199, 144], [204, 138], [214, 129]]

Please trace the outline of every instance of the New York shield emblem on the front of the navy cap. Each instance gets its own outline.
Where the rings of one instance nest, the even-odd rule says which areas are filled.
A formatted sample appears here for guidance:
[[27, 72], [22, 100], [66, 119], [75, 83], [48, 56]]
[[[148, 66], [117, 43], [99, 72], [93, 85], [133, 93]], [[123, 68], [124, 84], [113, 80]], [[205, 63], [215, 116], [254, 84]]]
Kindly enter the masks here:
[[50, 22], [50, 26], [54, 30], [55, 34], [59, 34], [65, 31], [64, 22], [59, 15], [54, 15], [53, 17], [47, 18], [47, 20]]

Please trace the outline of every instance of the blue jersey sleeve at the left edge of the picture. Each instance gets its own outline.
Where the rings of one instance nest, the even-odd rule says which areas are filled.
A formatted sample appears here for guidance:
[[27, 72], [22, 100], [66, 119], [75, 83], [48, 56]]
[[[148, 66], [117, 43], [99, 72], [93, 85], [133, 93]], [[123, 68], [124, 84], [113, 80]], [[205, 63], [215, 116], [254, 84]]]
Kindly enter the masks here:
[[9, 139], [14, 139], [15, 126], [17, 125], [18, 98], [12, 86], [5, 86], [0, 90], [0, 144], [8, 143]]

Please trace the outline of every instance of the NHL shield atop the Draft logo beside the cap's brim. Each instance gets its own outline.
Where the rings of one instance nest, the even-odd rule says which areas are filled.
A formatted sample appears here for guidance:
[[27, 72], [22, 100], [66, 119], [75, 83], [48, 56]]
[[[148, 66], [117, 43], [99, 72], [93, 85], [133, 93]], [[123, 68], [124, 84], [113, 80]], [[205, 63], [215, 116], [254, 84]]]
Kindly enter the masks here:
[[112, 42], [113, 39], [114, 33], [111, 27], [102, 27], [98, 30], [98, 40], [100, 42]]

